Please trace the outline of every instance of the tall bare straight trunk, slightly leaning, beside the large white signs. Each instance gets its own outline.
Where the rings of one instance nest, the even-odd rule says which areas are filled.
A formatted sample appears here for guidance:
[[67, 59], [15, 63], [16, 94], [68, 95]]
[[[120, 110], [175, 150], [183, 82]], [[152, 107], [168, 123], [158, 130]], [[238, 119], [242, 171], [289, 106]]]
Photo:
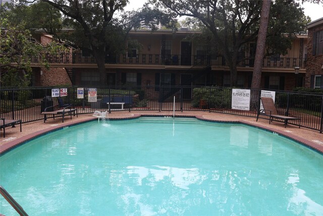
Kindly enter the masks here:
[[260, 14], [260, 25], [259, 25], [258, 38], [257, 38], [256, 55], [255, 55], [255, 61], [253, 66], [253, 73], [252, 73], [251, 89], [260, 88], [261, 69], [263, 65], [263, 57], [264, 57], [264, 49], [265, 49], [270, 8], [271, 8], [271, 0], [263, 0], [261, 14]]

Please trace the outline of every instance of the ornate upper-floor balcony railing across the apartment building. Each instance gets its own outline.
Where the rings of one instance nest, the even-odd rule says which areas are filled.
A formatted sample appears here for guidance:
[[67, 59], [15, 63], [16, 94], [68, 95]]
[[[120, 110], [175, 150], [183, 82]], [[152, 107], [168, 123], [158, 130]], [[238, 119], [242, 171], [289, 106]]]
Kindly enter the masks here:
[[[80, 53], [64, 53], [59, 55], [45, 55], [48, 63], [62, 64], [96, 64], [93, 56], [82, 56]], [[272, 58], [264, 57], [263, 67], [265, 68], [294, 68], [299, 66], [305, 68], [304, 58]], [[33, 63], [38, 63], [38, 59], [31, 58]], [[215, 55], [161, 55], [161, 54], [121, 54], [117, 57], [105, 58], [106, 64], [133, 64], [133, 65], [178, 65], [178, 66], [227, 66], [226, 61], [221, 56]], [[253, 67], [254, 60], [247, 59], [238, 63], [240, 67]]]

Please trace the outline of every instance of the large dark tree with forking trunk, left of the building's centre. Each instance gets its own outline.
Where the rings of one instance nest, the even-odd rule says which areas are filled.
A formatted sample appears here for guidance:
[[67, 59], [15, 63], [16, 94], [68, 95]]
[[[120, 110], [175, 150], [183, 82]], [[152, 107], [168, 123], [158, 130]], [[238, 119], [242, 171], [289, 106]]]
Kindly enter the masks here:
[[[166, 23], [167, 20], [165, 18], [167, 16], [161, 17], [160, 13], [154, 13], [154, 10], [148, 7], [139, 12], [123, 13], [120, 17], [116, 17], [115, 14], [124, 10], [128, 0], [40, 1], [60, 10], [75, 32], [82, 32], [82, 35], [87, 38], [87, 45], [96, 60], [102, 85], [106, 84], [105, 59], [108, 55], [124, 50], [120, 46], [125, 47], [121, 40], [125, 41], [130, 29], [138, 27], [141, 20], [149, 22], [152, 27], [155, 22]], [[159, 16], [158, 19], [155, 19], [157, 16]], [[74, 33], [74, 39], [70, 41], [76, 40]], [[82, 43], [84, 45], [84, 41]]]

